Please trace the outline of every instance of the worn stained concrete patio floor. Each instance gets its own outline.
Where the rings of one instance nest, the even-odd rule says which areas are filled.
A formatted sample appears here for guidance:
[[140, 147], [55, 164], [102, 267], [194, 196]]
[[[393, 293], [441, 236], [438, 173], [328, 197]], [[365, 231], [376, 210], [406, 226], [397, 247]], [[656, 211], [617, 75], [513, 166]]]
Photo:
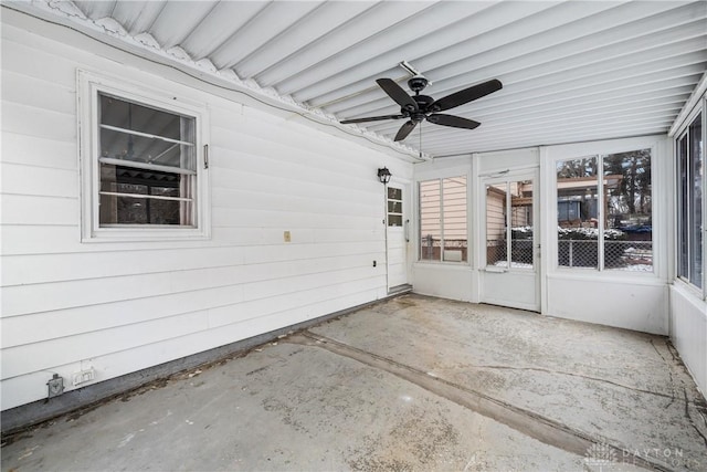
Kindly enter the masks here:
[[404, 295], [9, 438], [3, 471], [707, 470], [667, 340]]

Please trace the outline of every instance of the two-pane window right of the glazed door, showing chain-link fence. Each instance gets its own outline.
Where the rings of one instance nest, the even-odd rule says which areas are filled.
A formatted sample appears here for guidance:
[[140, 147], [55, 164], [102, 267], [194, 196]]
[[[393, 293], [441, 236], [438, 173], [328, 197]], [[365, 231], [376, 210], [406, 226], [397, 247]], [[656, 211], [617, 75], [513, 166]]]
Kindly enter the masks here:
[[560, 160], [556, 170], [558, 265], [653, 272], [651, 149]]

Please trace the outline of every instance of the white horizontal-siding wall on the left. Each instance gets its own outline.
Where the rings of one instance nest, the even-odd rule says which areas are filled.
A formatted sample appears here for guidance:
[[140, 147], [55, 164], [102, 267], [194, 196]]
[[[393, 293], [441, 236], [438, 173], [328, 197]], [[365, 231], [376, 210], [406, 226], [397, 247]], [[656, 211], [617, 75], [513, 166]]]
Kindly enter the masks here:
[[[387, 296], [376, 169], [410, 179], [395, 151], [2, 13], [3, 410], [54, 373], [72, 390]], [[77, 69], [208, 106], [211, 239], [81, 243]]]

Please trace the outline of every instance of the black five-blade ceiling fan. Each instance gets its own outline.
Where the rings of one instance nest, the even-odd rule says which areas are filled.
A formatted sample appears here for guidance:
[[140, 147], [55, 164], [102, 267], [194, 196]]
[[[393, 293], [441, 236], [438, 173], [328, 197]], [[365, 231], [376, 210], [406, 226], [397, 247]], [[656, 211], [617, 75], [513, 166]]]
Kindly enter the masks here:
[[378, 85], [390, 96], [398, 105], [400, 105], [400, 114], [386, 116], [370, 116], [367, 118], [345, 119], [341, 124], [379, 122], [382, 119], [401, 119], [409, 118], [395, 135], [397, 141], [403, 140], [418, 126], [418, 123], [426, 119], [430, 123], [442, 126], [452, 126], [453, 128], [474, 129], [481, 123], [473, 119], [462, 118], [461, 116], [446, 115], [444, 112], [455, 106], [478, 99], [483, 96], [492, 94], [503, 88], [500, 81], [494, 78], [483, 84], [473, 85], [451, 95], [442, 97], [437, 101], [428, 95], [420, 95], [420, 92], [428, 86], [428, 80], [422, 75], [415, 75], [408, 81], [410, 90], [414, 95], [408, 93], [392, 78], [378, 78]]

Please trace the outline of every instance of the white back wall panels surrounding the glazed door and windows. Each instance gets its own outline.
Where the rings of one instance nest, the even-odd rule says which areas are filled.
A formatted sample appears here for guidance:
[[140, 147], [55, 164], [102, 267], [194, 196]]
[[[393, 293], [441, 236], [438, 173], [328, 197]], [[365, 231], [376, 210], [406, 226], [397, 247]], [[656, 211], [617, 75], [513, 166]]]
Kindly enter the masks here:
[[[653, 160], [653, 221], [654, 273], [563, 269], [557, 266], [557, 196], [552, 185], [557, 157], [585, 156], [610, 153], [615, 149], [654, 148]], [[506, 169], [520, 170], [540, 166], [539, 232], [542, 254], [539, 272], [541, 313], [589, 323], [616, 326], [654, 334], [668, 334], [668, 266], [671, 244], [669, 207], [672, 153], [663, 136], [616, 139], [552, 146], [542, 149], [520, 149], [474, 155], [473, 159], [449, 164], [421, 164], [415, 166], [415, 180], [424, 180], [451, 172], [469, 172], [469, 187], [478, 186], [481, 176], [503, 175]], [[472, 188], [469, 195], [469, 252], [475, 255], [471, 264], [457, 266], [444, 263], [416, 262], [414, 268], [415, 292], [455, 300], [481, 302], [484, 300], [485, 272], [481, 266], [482, 251], [486, 251], [482, 228], [482, 192]], [[473, 230], [474, 229], [474, 230]], [[473, 240], [472, 240], [473, 238]], [[497, 276], [497, 274], [492, 274]], [[506, 277], [513, 283], [513, 279]], [[502, 282], [495, 282], [502, 283]], [[513, 292], [514, 287], [509, 287]]]

